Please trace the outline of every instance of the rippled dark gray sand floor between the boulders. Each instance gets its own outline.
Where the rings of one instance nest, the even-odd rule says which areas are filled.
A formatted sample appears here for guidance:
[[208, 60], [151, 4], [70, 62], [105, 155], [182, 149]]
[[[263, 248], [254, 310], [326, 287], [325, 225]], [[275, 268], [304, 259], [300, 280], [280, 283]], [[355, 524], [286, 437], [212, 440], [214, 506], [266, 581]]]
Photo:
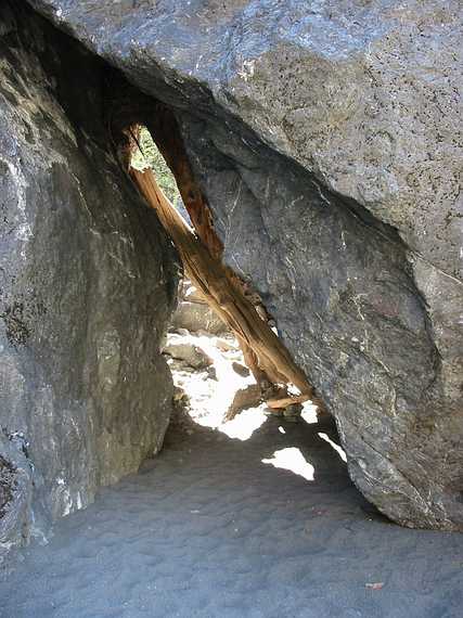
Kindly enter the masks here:
[[376, 514], [329, 428], [189, 432], [23, 552], [2, 618], [463, 616], [463, 536]]

